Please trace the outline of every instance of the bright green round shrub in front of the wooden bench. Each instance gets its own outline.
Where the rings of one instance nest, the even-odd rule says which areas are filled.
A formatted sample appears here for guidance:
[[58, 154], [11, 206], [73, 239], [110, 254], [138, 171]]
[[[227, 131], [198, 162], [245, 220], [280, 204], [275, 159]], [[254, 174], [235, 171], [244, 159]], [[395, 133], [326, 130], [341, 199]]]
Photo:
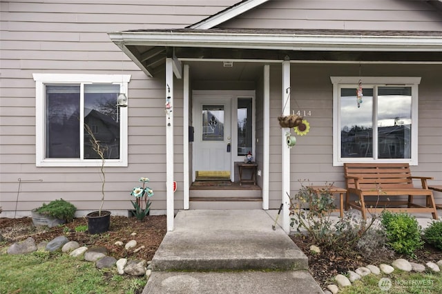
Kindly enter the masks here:
[[399, 254], [414, 257], [414, 251], [422, 248], [422, 228], [414, 216], [408, 213], [384, 211], [381, 224], [387, 236], [387, 246]]

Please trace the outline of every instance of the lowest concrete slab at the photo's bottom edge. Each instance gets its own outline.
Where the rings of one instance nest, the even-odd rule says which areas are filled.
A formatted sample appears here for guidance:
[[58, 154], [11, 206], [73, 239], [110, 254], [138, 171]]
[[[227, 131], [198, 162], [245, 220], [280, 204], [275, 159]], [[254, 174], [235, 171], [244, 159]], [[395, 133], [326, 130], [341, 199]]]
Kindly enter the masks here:
[[307, 271], [153, 272], [142, 294], [320, 294]]

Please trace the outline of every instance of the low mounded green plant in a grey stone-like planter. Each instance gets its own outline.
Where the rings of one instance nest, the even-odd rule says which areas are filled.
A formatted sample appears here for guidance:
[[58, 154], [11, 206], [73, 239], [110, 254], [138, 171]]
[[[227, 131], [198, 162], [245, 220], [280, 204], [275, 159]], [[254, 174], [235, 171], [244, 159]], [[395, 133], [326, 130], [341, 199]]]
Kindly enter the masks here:
[[55, 227], [72, 221], [75, 211], [77, 211], [77, 207], [60, 198], [59, 200], [49, 202], [49, 204], [43, 203], [41, 207], [32, 209], [32, 223], [35, 226]]

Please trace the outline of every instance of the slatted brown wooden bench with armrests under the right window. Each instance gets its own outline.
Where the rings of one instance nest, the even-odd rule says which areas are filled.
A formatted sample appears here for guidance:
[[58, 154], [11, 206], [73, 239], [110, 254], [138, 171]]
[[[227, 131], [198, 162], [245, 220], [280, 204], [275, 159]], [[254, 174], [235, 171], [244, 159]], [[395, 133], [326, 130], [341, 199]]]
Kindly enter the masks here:
[[[345, 163], [344, 175], [347, 186], [345, 204], [360, 210], [364, 219], [367, 212], [387, 209], [393, 212], [432, 213], [437, 220], [433, 192], [427, 185], [427, 180], [432, 178], [412, 176], [407, 163]], [[413, 179], [421, 180], [422, 187], [414, 187]], [[358, 196], [358, 202], [349, 202], [351, 193]], [[400, 198], [398, 196], [408, 196], [408, 199], [397, 199]], [[414, 196], [425, 197], [425, 207], [415, 204]], [[398, 207], [400, 205], [406, 207]]]

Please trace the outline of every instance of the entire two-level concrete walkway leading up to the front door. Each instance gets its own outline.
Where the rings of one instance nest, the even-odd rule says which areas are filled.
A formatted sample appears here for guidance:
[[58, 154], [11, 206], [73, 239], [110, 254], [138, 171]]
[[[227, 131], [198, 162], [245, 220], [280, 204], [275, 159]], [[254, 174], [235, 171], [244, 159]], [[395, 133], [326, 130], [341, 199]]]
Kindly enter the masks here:
[[263, 210], [179, 211], [147, 293], [323, 293], [307, 257]]

